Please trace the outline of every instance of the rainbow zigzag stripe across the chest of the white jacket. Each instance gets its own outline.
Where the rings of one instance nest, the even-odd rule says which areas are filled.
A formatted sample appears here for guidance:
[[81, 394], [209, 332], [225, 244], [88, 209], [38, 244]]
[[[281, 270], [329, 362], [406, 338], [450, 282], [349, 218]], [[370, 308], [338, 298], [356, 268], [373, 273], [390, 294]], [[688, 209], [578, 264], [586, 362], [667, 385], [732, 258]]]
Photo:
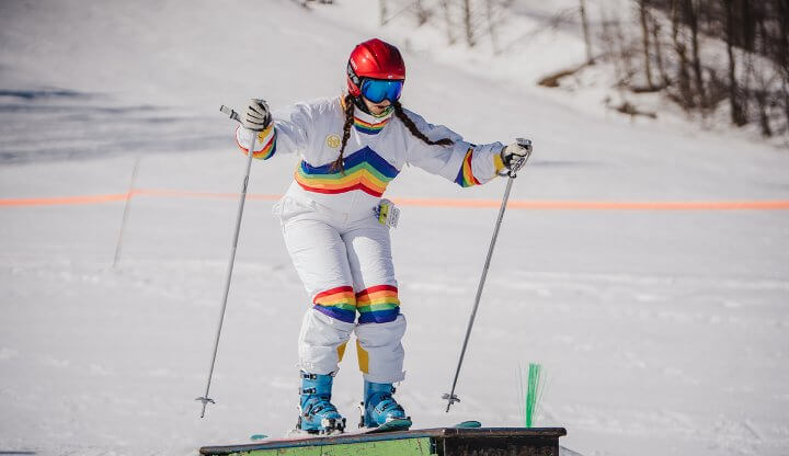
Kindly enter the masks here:
[[366, 146], [345, 157], [343, 163], [344, 173], [332, 170], [333, 163], [313, 167], [302, 160], [294, 176], [309, 192], [334, 194], [361, 190], [373, 196], [381, 196], [389, 182], [400, 173], [400, 170]]

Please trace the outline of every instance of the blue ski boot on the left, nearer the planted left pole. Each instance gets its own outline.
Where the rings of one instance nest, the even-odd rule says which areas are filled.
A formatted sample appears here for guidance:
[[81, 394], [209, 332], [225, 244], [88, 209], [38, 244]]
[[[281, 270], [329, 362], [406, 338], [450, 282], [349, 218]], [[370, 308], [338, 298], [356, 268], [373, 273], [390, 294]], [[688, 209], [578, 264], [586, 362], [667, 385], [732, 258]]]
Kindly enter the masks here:
[[331, 403], [333, 381], [331, 375], [301, 373], [301, 400], [296, 429], [310, 434], [332, 434], [345, 430], [345, 419]]

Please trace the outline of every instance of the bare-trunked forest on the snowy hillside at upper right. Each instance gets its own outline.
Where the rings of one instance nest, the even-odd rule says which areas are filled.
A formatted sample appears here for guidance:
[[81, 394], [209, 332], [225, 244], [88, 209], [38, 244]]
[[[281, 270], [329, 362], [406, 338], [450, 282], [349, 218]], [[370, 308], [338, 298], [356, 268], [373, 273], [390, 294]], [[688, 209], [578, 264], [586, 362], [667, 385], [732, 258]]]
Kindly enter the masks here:
[[[304, 4], [311, 3], [300, 0]], [[342, 0], [313, 0], [336, 3]], [[585, 61], [557, 68], [539, 83], [595, 65], [615, 70], [611, 89], [660, 93], [688, 114], [789, 135], [789, 0], [567, 0], [550, 2], [552, 27], [576, 26]], [[545, 11], [534, 0], [378, 0], [380, 24], [410, 16], [414, 26], [445, 31], [448, 45], [502, 56], [502, 26], [513, 14]], [[503, 56], [505, 57], [505, 56]], [[629, 103], [626, 114], [641, 113]]]

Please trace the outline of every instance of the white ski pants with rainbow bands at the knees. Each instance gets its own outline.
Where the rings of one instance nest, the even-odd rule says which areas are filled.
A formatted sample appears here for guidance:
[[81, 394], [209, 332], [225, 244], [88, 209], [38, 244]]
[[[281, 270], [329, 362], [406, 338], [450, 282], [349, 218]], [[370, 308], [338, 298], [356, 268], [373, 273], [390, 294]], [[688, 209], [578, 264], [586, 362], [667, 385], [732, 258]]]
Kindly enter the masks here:
[[298, 339], [299, 367], [336, 373], [355, 332], [365, 379], [401, 381], [405, 317], [400, 314], [389, 228], [371, 210], [358, 219], [290, 196], [274, 213], [311, 299]]

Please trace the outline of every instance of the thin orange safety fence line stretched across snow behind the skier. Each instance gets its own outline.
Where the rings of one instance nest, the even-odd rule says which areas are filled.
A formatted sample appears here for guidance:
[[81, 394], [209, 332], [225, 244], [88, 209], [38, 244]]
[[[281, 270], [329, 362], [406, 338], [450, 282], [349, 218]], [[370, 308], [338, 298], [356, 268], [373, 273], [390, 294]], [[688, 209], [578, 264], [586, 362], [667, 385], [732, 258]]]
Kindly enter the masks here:
[[[37, 198], [0, 198], [0, 207], [62, 206], [111, 203], [141, 196], [190, 198], [238, 198], [238, 193], [191, 192], [182, 190], [136, 189], [129, 193], [104, 195], [55, 196]], [[250, 201], [276, 201], [282, 195], [247, 195]], [[416, 207], [495, 208], [496, 200], [460, 198], [391, 198], [396, 204]], [[789, 200], [767, 201], [708, 201], [708, 202], [601, 202], [601, 201], [510, 201], [507, 208], [529, 210], [787, 210]]]

